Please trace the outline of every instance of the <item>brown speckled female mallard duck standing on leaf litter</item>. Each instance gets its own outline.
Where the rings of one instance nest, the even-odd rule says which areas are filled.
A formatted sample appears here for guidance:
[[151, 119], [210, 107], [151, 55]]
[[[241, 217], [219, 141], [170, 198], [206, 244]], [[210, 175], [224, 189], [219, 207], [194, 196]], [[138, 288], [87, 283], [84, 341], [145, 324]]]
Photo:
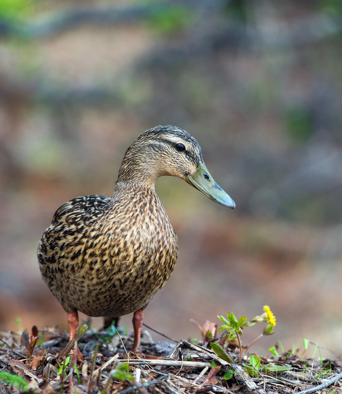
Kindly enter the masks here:
[[177, 235], [154, 190], [162, 175], [235, 207], [187, 131], [163, 125], [140, 134], [125, 153], [113, 197], [66, 202], [40, 241], [43, 279], [68, 313], [70, 340], [78, 310], [113, 319], [134, 312], [131, 350], [140, 350], [143, 310], [169, 279], [178, 254]]

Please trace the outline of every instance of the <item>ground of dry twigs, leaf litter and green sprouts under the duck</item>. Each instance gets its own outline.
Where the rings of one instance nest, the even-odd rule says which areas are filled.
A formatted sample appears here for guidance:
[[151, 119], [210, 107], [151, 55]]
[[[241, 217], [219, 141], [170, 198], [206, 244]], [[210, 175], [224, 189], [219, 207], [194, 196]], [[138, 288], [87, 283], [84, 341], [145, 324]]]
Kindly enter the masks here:
[[[109, 330], [110, 332], [110, 330]], [[192, 343], [181, 340], [144, 342], [142, 354], [127, 349], [132, 335], [78, 329], [75, 340], [56, 328], [32, 335], [0, 332], [0, 394], [2, 393], [140, 393], [140, 394], [342, 394], [342, 359], [302, 358], [291, 351], [278, 356], [240, 353], [219, 338]], [[39, 337], [39, 339], [37, 339]], [[215, 351], [214, 351], [215, 350]]]

